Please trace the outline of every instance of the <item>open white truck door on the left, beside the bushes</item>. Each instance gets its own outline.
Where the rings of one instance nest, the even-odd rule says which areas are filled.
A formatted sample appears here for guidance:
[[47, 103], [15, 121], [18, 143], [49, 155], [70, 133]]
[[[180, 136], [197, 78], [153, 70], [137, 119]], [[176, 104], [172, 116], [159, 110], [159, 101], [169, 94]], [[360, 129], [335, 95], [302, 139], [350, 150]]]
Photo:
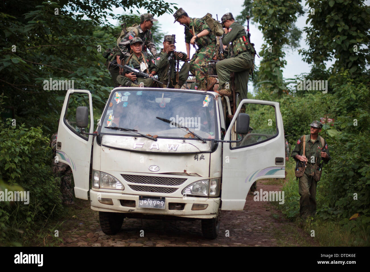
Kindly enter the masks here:
[[89, 125], [85, 132], [92, 133], [93, 131], [94, 119], [90, 91], [68, 90], [60, 114], [57, 156], [59, 162], [68, 164], [72, 169], [76, 197], [87, 199], [93, 137], [92, 135], [82, 134], [80, 128], [76, 126], [76, 109], [79, 106], [90, 108]]

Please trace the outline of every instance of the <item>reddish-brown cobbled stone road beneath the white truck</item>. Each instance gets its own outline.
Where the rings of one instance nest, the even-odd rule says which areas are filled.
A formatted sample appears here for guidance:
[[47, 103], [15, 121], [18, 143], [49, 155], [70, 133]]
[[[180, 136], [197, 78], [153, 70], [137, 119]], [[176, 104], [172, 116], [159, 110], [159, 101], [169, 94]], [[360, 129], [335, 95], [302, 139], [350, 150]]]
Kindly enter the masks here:
[[[258, 191], [276, 191], [281, 185], [258, 181]], [[270, 202], [253, 201], [248, 194], [243, 211], [222, 211], [218, 238], [204, 239], [201, 221], [124, 219], [116, 235], [105, 235], [100, 228], [97, 211], [90, 201], [77, 200], [73, 218], [61, 226], [61, 246], [300, 246], [285, 229], [287, 221]], [[144, 230], [144, 237], [140, 237]], [[227, 231], [229, 236], [227, 236]]]

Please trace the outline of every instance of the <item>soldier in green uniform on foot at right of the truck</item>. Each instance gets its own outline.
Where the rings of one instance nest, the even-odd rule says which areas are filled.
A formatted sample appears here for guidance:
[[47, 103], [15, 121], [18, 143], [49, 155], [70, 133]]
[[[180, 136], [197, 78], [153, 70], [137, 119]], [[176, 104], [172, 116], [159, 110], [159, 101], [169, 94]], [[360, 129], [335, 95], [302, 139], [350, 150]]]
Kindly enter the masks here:
[[[321, 161], [328, 163], [331, 159], [326, 141], [319, 136], [323, 125], [319, 121], [310, 124], [310, 134], [306, 135], [305, 154], [303, 153], [303, 139], [301, 136], [292, 152], [292, 158], [296, 161], [307, 163], [303, 177], [299, 178], [299, 214], [302, 218], [316, 214], [316, 186], [315, 175]], [[322, 152], [323, 149], [325, 152]], [[316, 172], [316, 173], [315, 173]]]

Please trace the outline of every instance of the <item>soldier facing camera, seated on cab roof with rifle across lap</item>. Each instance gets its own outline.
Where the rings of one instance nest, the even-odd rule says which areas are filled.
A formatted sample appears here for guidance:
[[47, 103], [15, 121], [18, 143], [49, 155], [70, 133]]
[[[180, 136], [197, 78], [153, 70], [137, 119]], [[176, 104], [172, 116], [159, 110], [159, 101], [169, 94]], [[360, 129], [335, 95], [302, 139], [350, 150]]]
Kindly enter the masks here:
[[[155, 66], [153, 56], [147, 52], [142, 52], [143, 42], [141, 38], [132, 38], [130, 44], [133, 53], [125, 59], [125, 63], [123, 64], [147, 73], [151, 77], [157, 74], [157, 67]], [[138, 82], [134, 83], [136, 80]], [[134, 73], [127, 73], [127, 71], [125, 71], [124, 75], [118, 75], [117, 82], [121, 87], [140, 87], [140, 83], [143, 83], [144, 87], [152, 87], [154, 85], [153, 80], [150, 78], [138, 77]]]

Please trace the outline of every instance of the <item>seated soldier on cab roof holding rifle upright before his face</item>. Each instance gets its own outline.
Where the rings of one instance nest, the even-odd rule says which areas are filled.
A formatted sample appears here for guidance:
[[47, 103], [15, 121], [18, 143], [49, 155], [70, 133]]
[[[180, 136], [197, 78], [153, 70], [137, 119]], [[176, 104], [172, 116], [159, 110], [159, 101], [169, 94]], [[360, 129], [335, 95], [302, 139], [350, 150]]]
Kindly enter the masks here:
[[[164, 83], [163, 87], [167, 87], [168, 83], [168, 69], [169, 69], [169, 61], [168, 58], [171, 52], [175, 51], [175, 45], [171, 44], [172, 36], [166, 35], [164, 36], [163, 40], [163, 48], [161, 52], [156, 56], [156, 65], [158, 68], [158, 80]], [[189, 77], [189, 69], [190, 64], [186, 61], [187, 55], [183, 52], [175, 52], [174, 57], [172, 58], [172, 75], [171, 75], [171, 82], [169, 83], [170, 88], [180, 89], [181, 86], [185, 83], [185, 81]], [[184, 64], [178, 73], [175, 73], [175, 67], [177, 61], [182, 60]]]

